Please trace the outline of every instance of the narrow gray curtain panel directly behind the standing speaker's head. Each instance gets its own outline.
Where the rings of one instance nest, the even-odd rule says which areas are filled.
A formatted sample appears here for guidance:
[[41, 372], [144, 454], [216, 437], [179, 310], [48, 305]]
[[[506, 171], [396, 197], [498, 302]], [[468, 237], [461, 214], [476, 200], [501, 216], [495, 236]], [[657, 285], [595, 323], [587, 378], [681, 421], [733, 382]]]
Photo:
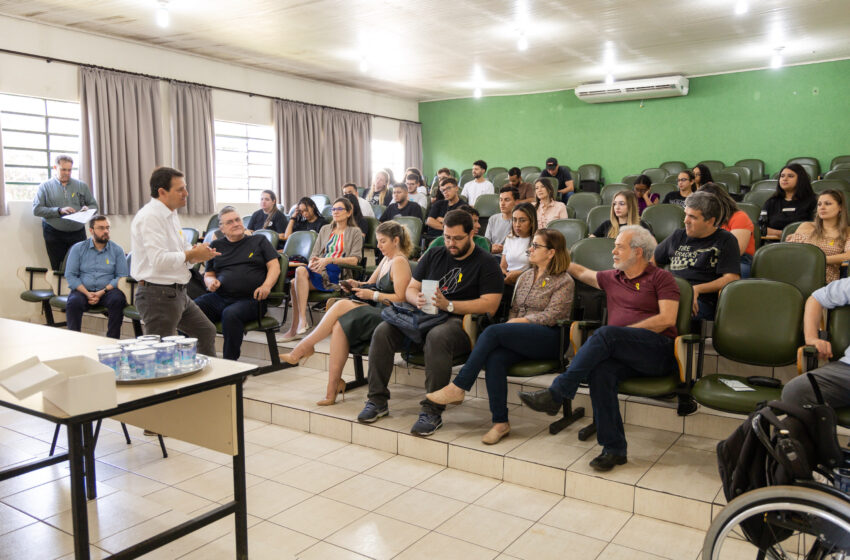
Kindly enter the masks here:
[[181, 212], [215, 212], [212, 90], [171, 82], [171, 161], [186, 174], [189, 199]]

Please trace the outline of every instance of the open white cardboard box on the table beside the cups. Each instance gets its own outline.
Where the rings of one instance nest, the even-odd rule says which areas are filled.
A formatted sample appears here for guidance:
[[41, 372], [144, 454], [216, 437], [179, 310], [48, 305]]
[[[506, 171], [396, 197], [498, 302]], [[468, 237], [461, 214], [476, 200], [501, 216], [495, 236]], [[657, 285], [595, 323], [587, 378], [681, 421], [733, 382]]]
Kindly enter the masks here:
[[117, 406], [118, 394], [112, 368], [88, 356], [49, 360], [44, 365], [60, 374], [58, 382], [44, 389], [44, 398], [69, 415]]

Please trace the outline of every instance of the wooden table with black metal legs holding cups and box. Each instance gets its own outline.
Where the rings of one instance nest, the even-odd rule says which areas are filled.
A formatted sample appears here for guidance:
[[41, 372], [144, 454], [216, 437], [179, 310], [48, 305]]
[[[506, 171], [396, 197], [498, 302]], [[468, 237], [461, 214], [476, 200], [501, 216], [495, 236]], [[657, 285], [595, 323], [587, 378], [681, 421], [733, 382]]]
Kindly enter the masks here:
[[[45, 325], [0, 319], [0, 369], [31, 356], [52, 360], [73, 355], [97, 359], [96, 348], [112, 339]], [[70, 463], [74, 555], [89, 558], [86, 494], [95, 497], [92, 422], [114, 418], [172, 436], [233, 457], [233, 500], [137, 543], [110, 558], [137, 558], [231, 513], [236, 525], [236, 558], [248, 558], [248, 517], [245, 490], [245, 443], [242, 422], [242, 381], [256, 370], [250, 364], [212, 358], [201, 372], [161, 383], [119, 385], [118, 405], [74, 416], [45, 400], [41, 393], [17, 399], [0, 387], [0, 405], [64, 424], [68, 452], [38, 459], [0, 472], [6, 480], [65, 460]]]

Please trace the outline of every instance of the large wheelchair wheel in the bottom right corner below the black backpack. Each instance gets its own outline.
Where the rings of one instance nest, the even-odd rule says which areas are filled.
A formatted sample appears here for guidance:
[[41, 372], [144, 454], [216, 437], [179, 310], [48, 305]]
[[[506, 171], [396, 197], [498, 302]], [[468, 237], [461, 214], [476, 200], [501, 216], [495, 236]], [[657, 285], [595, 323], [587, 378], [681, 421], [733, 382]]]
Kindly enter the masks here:
[[831, 488], [759, 488], [714, 519], [702, 560], [850, 560], [850, 497]]

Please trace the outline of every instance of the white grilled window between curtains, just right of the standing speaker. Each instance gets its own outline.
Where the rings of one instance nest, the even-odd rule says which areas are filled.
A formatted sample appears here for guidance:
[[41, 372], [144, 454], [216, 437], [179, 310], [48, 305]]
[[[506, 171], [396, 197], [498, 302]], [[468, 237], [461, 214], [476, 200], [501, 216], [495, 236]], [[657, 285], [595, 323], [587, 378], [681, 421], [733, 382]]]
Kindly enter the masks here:
[[216, 203], [259, 203], [274, 190], [274, 165], [273, 127], [215, 121]]

